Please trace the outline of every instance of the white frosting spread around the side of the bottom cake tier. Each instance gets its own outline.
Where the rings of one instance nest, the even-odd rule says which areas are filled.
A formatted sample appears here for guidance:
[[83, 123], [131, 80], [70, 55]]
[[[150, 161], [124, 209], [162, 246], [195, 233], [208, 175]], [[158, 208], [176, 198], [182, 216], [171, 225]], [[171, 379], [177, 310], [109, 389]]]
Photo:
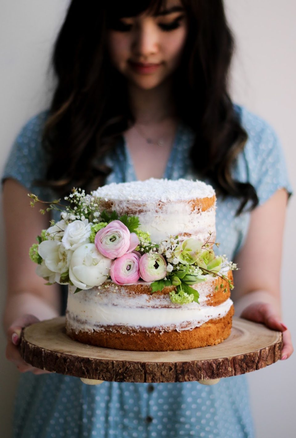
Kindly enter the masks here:
[[[200, 283], [200, 285], [204, 283]], [[195, 285], [197, 286], [197, 285]], [[210, 286], [210, 285], [208, 285]], [[196, 288], [197, 289], [197, 288]], [[206, 289], [198, 288], [201, 303], [205, 301]], [[219, 306], [197, 303], [173, 304], [169, 295], [127, 293], [115, 286], [102, 290], [91, 289], [74, 294], [69, 287], [67, 320], [75, 331], [104, 330], [106, 326], [125, 326], [133, 329], [185, 330], [198, 327], [210, 319], [225, 316], [231, 305], [230, 298]]]

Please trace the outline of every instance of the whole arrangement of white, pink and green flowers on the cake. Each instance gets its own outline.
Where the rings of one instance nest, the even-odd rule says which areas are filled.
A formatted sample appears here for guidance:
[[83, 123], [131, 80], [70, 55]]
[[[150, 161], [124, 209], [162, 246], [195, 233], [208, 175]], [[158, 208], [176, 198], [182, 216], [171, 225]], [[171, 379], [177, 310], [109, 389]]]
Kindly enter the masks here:
[[137, 216], [100, 211], [99, 199], [80, 188], [65, 197], [66, 207], [60, 200], [44, 202], [34, 194], [28, 196], [32, 207], [37, 202], [47, 205], [42, 214], [61, 212], [60, 221], [52, 220], [29, 250], [38, 264], [36, 273], [46, 284], [70, 284], [77, 293], [110, 281], [124, 285], [142, 279], [151, 282], [152, 293], [176, 286], [169, 293], [176, 304], [198, 303], [199, 294], [191, 286], [205, 281], [208, 274], [226, 279], [233, 288], [224, 273], [236, 265], [215, 256], [211, 233], [204, 244], [193, 238], [179, 243], [178, 236], [155, 244], [139, 228]]

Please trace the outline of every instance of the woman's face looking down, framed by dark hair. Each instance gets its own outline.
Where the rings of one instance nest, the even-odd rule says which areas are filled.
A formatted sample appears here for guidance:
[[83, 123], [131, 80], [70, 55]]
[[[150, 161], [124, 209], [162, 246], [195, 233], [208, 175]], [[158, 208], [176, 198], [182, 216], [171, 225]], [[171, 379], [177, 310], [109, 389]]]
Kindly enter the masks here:
[[110, 58], [128, 81], [152, 89], [178, 66], [186, 36], [182, 4], [168, 0], [158, 15], [120, 18], [109, 30]]

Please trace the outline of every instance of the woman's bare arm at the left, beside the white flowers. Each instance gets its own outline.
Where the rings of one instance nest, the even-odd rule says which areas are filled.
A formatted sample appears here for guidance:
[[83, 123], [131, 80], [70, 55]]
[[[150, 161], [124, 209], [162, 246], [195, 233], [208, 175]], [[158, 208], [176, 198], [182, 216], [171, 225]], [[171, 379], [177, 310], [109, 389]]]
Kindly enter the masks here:
[[36, 265], [28, 255], [42, 229], [49, 227], [49, 215], [41, 215], [38, 205], [30, 207], [27, 190], [17, 181], [4, 183], [3, 208], [7, 254], [7, 299], [4, 330], [7, 333], [7, 359], [20, 371], [42, 372], [25, 364], [18, 349], [21, 327], [54, 318], [60, 313], [59, 285], [46, 286], [35, 273]]

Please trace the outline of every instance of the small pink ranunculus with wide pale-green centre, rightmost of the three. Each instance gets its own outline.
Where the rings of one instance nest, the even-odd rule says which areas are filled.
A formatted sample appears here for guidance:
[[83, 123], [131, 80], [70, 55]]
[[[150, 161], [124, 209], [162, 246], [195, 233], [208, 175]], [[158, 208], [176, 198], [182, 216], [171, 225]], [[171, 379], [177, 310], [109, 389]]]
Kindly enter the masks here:
[[157, 281], [166, 276], [166, 260], [158, 253], [143, 254], [139, 268], [144, 281]]

